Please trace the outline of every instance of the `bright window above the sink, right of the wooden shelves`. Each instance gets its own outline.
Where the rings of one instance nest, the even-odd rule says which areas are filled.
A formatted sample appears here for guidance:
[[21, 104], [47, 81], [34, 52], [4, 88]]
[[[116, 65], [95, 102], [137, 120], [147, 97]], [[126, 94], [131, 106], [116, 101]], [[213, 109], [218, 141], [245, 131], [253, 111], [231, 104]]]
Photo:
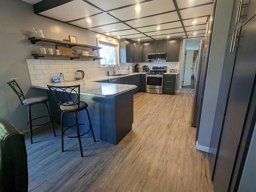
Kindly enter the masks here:
[[109, 42], [99, 41], [99, 56], [101, 65], [116, 65], [117, 64], [117, 45]]

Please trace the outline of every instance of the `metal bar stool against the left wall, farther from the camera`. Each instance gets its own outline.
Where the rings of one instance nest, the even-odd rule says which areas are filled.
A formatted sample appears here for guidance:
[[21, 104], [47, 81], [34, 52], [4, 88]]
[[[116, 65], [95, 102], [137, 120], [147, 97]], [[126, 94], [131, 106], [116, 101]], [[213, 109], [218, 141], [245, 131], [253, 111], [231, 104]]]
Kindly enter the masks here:
[[[45, 125], [45, 124], [48, 124], [48, 123], [51, 123], [53, 134], [56, 137], [56, 133], [55, 133], [55, 130], [54, 130], [54, 127], [53, 127], [52, 117], [51, 117], [51, 114], [50, 114], [50, 110], [49, 110], [49, 107], [48, 107], [48, 105], [46, 103], [47, 101], [49, 101], [49, 98], [45, 97], [45, 96], [42, 96], [42, 97], [34, 97], [34, 98], [27, 98], [27, 99], [25, 99], [25, 96], [23, 94], [22, 89], [19, 87], [18, 83], [15, 80], [7, 82], [7, 84], [16, 93], [20, 103], [22, 103], [22, 105], [27, 105], [28, 106], [28, 119], [29, 119], [29, 122], [27, 123], [27, 125], [29, 125], [30, 142], [33, 143], [33, 138], [32, 138], [33, 130], [32, 130], [32, 128], [35, 127], [35, 126], [41, 126], [41, 125]], [[49, 116], [39, 116], [39, 117], [36, 117], [36, 118], [32, 119], [31, 118], [31, 106], [32, 105], [36, 105], [36, 104], [45, 104]], [[32, 121], [34, 121], [34, 120], [36, 120], [38, 118], [43, 118], [43, 117], [49, 117], [50, 121], [42, 123], [42, 124], [39, 124], [39, 125], [32, 125]]]

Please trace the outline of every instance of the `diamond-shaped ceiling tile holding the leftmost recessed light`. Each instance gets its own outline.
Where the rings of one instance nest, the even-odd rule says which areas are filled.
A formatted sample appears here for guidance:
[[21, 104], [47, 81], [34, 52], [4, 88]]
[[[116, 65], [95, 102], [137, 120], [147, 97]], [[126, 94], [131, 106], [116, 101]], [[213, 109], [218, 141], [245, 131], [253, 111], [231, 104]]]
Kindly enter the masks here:
[[117, 20], [116, 18], [114, 18], [106, 13], [100, 13], [98, 15], [94, 15], [94, 16], [90, 17], [90, 19], [92, 20], [91, 23], [87, 22], [88, 18], [89, 17], [81, 19], [81, 20], [73, 21], [70, 23], [75, 26], [82, 27], [82, 28], [92, 28], [92, 27], [96, 27], [96, 26], [119, 22], [119, 20]]

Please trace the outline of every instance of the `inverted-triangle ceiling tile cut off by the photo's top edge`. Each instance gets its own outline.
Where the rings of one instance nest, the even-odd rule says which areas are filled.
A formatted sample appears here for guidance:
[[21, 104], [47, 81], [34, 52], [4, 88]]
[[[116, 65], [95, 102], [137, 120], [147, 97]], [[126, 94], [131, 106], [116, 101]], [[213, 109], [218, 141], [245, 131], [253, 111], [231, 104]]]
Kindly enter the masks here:
[[123, 7], [126, 5], [131, 5], [134, 3], [139, 3], [144, 0], [111, 0], [106, 1], [106, 0], [88, 0], [88, 2], [92, 3], [93, 5], [96, 5], [100, 9], [103, 9], [104, 11], [108, 11], [111, 9]]

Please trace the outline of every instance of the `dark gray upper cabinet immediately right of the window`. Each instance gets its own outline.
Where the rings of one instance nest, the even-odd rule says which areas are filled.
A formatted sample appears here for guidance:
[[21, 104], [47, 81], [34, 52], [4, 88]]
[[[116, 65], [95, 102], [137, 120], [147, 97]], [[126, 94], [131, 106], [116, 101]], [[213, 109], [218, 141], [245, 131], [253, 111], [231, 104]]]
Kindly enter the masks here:
[[134, 63], [134, 44], [130, 41], [119, 41], [120, 63]]

